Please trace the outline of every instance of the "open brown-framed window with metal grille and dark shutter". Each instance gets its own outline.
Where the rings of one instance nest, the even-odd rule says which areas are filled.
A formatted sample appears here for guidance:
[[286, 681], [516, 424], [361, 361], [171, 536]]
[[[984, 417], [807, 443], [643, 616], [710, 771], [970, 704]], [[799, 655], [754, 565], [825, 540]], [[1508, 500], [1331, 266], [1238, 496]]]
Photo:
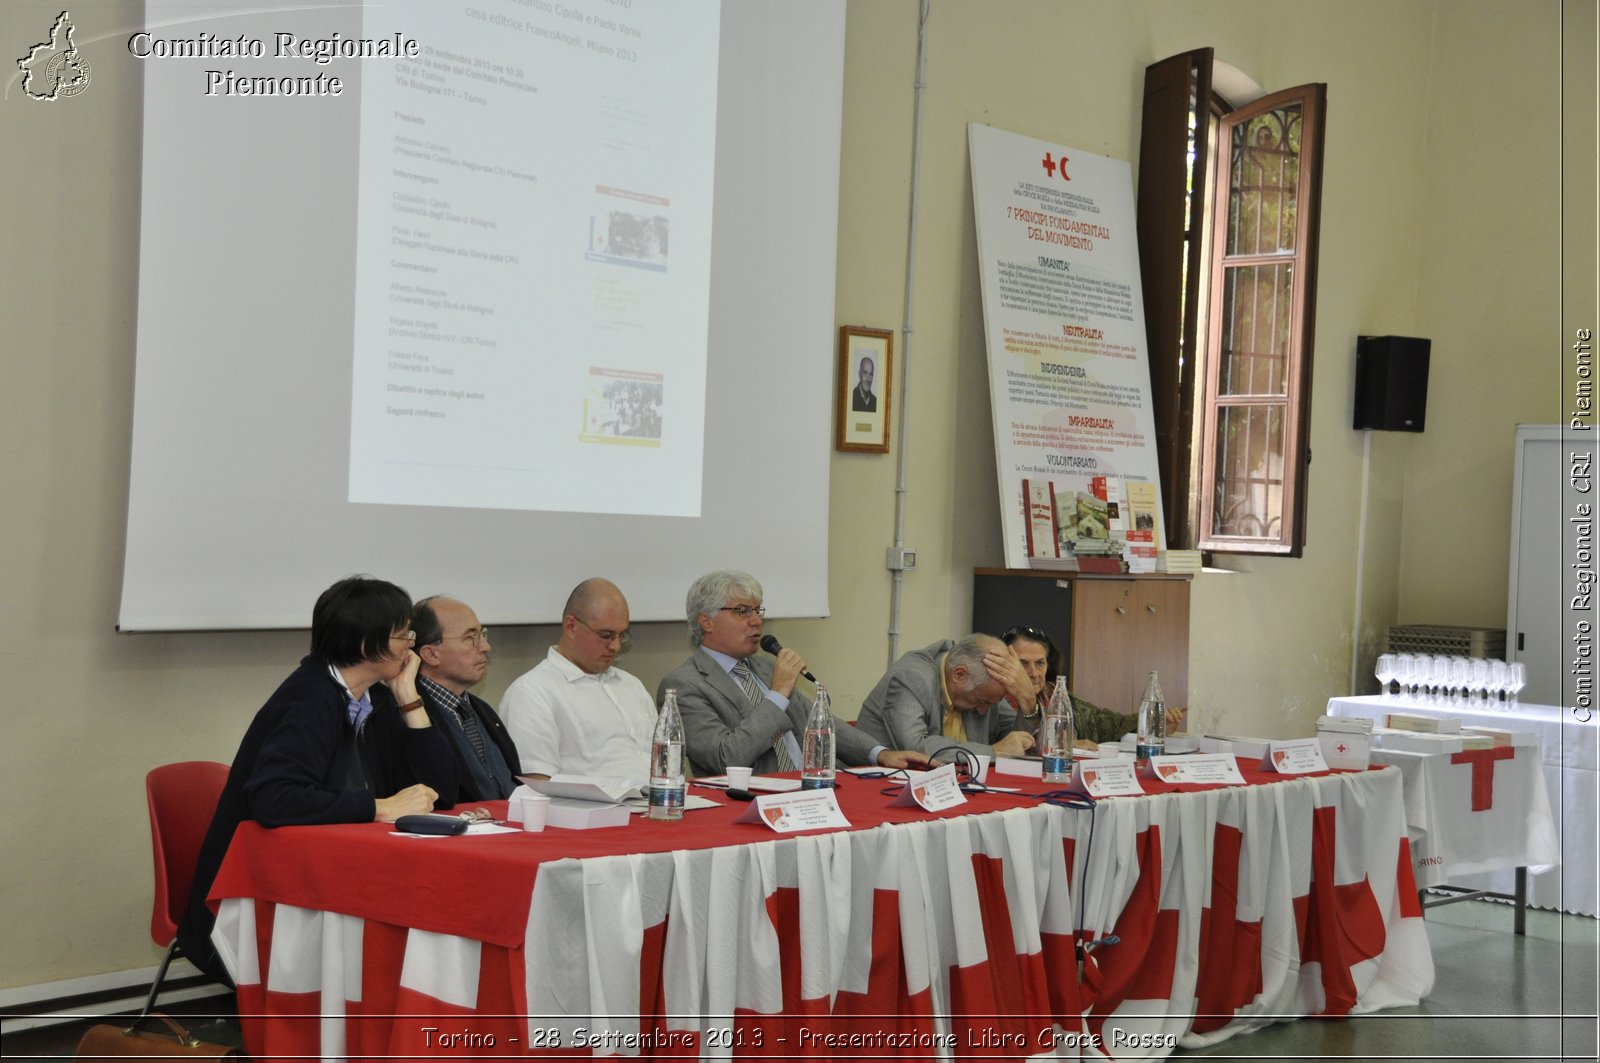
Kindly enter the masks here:
[[1210, 48], [1146, 70], [1139, 253], [1170, 546], [1304, 548], [1323, 104], [1307, 85], [1235, 109]]

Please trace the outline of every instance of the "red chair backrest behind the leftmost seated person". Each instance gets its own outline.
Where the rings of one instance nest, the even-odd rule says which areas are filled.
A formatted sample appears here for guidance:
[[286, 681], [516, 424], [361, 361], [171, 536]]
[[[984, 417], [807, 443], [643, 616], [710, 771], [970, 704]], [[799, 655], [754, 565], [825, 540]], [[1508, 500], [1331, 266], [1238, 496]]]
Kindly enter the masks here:
[[189, 885], [200, 860], [200, 842], [227, 783], [227, 765], [216, 760], [163, 764], [144, 776], [150, 802], [150, 850], [155, 855], [155, 905], [150, 938], [166, 948], [189, 905]]

